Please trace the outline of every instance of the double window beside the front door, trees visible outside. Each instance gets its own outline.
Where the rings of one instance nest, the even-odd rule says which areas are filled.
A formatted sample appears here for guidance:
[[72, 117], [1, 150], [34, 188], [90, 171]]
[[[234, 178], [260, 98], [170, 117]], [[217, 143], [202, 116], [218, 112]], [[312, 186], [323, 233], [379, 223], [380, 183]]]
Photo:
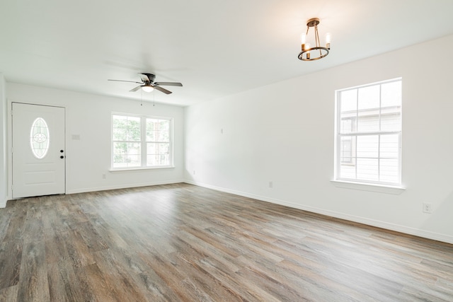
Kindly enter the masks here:
[[112, 115], [112, 168], [173, 165], [172, 120], [166, 117]]

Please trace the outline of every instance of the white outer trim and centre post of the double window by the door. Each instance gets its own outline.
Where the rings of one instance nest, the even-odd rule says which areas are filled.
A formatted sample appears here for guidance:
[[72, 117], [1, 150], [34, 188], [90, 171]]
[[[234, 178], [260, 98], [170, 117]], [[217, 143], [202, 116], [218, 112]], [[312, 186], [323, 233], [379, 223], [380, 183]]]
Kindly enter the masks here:
[[[140, 117], [140, 145], [141, 145], [141, 153], [140, 153], [140, 166], [134, 167], [113, 167], [113, 115], [122, 115], [126, 117]], [[146, 153], [146, 144], [147, 144], [147, 119], [157, 119], [157, 120], [169, 120], [170, 121], [170, 154], [168, 158], [168, 165], [146, 165], [147, 162], [147, 153]], [[142, 122], [142, 121], [145, 122]], [[119, 171], [131, 171], [131, 170], [155, 170], [155, 169], [168, 169], [168, 168], [175, 168], [173, 165], [173, 117], [159, 117], [155, 115], [135, 115], [132, 113], [124, 113], [124, 112], [112, 112], [110, 115], [110, 170], [109, 172], [119, 172]]]

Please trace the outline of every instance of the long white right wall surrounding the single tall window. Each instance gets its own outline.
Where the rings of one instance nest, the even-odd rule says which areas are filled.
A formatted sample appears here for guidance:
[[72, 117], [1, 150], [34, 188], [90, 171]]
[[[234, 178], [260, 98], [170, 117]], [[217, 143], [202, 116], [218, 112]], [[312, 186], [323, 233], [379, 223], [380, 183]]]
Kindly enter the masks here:
[[[432, 51], [452, 47], [453, 36], [444, 37], [185, 108], [185, 178], [453, 243], [453, 60]], [[337, 187], [334, 91], [399, 76], [406, 190]], [[423, 213], [423, 202], [432, 203], [432, 214]]]

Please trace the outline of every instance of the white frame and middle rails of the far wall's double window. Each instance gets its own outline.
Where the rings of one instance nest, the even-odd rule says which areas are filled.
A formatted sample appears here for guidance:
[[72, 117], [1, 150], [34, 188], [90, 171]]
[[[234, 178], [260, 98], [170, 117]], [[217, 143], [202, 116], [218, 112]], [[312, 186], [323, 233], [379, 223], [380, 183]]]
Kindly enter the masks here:
[[[114, 146], [115, 141], [113, 137], [113, 118], [115, 115], [122, 117], [139, 117], [140, 119], [140, 140], [135, 141], [140, 145], [140, 162], [139, 165], [129, 167], [115, 167], [114, 165]], [[168, 121], [168, 164], [167, 165], [147, 165], [147, 144], [167, 144], [162, 141], [147, 141], [147, 120], [167, 120]], [[159, 168], [173, 168], [173, 117], [160, 117], [155, 115], [136, 115], [132, 113], [124, 112], [112, 112], [110, 116], [110, 170], [121, 171], [121, 170], [144, 170], [144, 169], [159, 169]]]

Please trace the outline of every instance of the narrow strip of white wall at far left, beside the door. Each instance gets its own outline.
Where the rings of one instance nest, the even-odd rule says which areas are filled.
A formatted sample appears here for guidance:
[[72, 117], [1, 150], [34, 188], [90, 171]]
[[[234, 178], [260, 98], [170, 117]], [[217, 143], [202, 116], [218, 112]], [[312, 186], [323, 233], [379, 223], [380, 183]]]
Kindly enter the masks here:
[[8, 149], [6, 145], [6, 121], [7, 121], [7, 109], [6, 109], [6, 82], [4, 75], [0, 73], [0, 208], [6, 207], [7, 199], [7, 188], [6, 183], [8, 182], [7, 173], [7, 159]]

